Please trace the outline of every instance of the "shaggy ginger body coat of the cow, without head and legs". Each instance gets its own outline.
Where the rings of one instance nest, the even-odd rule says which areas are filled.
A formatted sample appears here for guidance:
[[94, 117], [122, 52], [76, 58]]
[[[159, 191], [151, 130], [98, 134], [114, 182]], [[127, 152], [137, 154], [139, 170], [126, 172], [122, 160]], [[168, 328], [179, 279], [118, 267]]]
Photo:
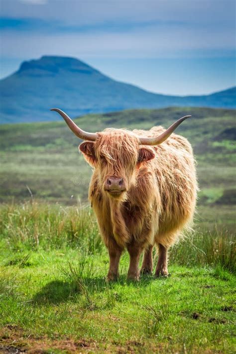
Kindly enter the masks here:
[[139, 170], [126, 202], [111, 202], [99, 190], [94, 172], [89, 199], [107, 246], [115, 240], [121, 248], [133, 242], [142, 247], [155, 242], [168, 247], [191, 224], [197, 192], [191, 145], [173, 134], [155, 151], [156, 158]]

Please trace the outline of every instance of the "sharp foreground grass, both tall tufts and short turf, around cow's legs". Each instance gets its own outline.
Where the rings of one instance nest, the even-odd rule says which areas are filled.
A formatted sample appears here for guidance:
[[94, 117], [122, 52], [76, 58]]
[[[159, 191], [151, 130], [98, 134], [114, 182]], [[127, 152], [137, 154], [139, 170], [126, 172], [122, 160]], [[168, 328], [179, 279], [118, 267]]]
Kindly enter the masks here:
[[232, 235], [188, 235], [171, 249], [168, 278], [127, 281], [124, 253], [107, 283], [90, 208], [0, 209], [3, 353], [234, 353]]

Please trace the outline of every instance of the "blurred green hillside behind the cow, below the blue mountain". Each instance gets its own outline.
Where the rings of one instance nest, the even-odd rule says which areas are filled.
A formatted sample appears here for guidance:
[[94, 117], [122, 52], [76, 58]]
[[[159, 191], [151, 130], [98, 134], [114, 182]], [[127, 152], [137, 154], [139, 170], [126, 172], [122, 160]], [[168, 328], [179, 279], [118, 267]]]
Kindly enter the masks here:
[[[51, 113], [52, 115], [54, 113]], [[236, 206], [235, 111], [207, 108], [129, 110], [76, 119], [85, 130], [105, 127], [168, 127], [191, 114], [177, 133], [192, 143], [197, 158], [199, 222], [233, 227]], [[30, 198], [72, 205], [87, 201], [91, 167], [78, 153], [79, 139], [64, 121], [0, 126], [0, 201]]]

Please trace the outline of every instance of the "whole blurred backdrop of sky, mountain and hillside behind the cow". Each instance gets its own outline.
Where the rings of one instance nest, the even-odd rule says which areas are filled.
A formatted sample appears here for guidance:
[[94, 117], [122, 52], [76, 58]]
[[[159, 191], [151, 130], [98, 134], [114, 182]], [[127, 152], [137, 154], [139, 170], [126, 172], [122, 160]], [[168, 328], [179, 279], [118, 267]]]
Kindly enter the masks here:
[[87, 203], [85, 130], [192, 119], [196, 224], [235, 231], [233, 0], [1, 0], [0, 202]]

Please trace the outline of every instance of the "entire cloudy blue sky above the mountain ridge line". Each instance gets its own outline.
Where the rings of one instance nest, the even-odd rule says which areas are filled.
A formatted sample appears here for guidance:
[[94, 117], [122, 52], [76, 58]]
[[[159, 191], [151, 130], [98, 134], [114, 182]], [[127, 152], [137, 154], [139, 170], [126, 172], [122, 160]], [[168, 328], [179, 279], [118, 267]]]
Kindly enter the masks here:
[[0, 77], [23, 60], [73, 56], [148, 91], [236, 84], [235, 0], [0, 0]]

